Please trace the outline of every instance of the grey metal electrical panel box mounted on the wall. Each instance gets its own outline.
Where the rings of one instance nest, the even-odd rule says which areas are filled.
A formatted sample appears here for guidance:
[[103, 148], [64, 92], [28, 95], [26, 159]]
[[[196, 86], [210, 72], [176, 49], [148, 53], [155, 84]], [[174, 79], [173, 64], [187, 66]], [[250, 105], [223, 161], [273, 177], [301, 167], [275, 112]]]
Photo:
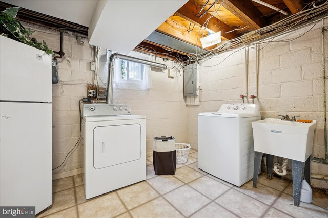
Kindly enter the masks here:
[[185, 83], [183, 86], [183, 96], [197, 96], [197, 74], [199, 64], [185, 66]]

